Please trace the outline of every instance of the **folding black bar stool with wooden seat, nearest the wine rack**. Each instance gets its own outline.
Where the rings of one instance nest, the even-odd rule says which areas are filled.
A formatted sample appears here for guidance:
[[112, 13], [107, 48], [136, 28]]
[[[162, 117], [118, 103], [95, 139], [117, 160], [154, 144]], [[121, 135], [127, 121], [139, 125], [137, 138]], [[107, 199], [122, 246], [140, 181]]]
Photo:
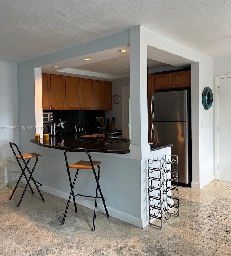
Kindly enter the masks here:
[[[84, 153], [86, 153], [88, 155], [89, 161], [78, 161], [77, 163], [69, 165], [68, 161], [67, 161], [67, 156], [66, 156], [67, 152], [84, 152]], [[94, 216], [93, 216], [92, 231], [95, 231], [95, 219], [96, 219], [96, 208], [97, 208], [97, 200], [98, 200], [98, 198], [102, 199], [103, 204], [104, 204], [104, 209], [106, 211], [106, 215], [109, 218], [108, 210], [107, 210], [107, 207], [106, 207], [106, 204], [105, 204], [106, 198], [103, 197], [103, 194], [102, 194], [102, 191], [101, 191], [101, 188], [100, 188], [100, 184], [99, 184], [99, 179], [100, 179], [100, 167], [99, 167], [99, 165], [101, 164], [101, 162], [92, 161], [91, 155], [86, 150], [78, 150], [78, 149], [66, 150], [64, 152], [64, 156], [65, 156], [65, 161], [66, 161], [66, 168], [67, 168], [67, 173], [68, 173], [68, 177], [69, 177], [71, 192], [70, 192], [70, 196], [69, 196], [68, 201], [67, 201], [66, 210], [65, 210], [64, 217], [62, 219], [62, 224], [61, 225], [64, 224], [64, 221], [65, 221], [65, 218], [66, 218], [66, 214], [67, 214], [67, 210], [68, 210], [68, 207], [69, 207], [69, 204], [70, 204], [71, 196], [73, 197], [73, 202], [74, 202], [75, 212], [76, 213], [77, 213], [77, 207], [76, 207], [76, 203], [75, 203], [75, 197], [76, 196], [93, 197], [93, 198], [95, 198], [95, 209], [94, 209]], [[98, 167], [98, 175], [96, 175], [96, 172], [95, 172], [95, 167], [96, 166]], [[70, 169], [69, 168], [77, 169], [73, 182], [71, 181]], [[73, 190], [74, 190], [75, 181], [76, 181], [79, 169], [87, 169], [87, 170], [91, 170], [92, 169], [93, 174], [95, 176], [96, 184], [97, 184], [96, 185], [96, 195], [95, 196], [86, 196], [86, 195], [81, 195], [81, 194], [74, 195]], [[100, 196], [101, 197], [98, 197], [98, 192], [100, 192]]]

